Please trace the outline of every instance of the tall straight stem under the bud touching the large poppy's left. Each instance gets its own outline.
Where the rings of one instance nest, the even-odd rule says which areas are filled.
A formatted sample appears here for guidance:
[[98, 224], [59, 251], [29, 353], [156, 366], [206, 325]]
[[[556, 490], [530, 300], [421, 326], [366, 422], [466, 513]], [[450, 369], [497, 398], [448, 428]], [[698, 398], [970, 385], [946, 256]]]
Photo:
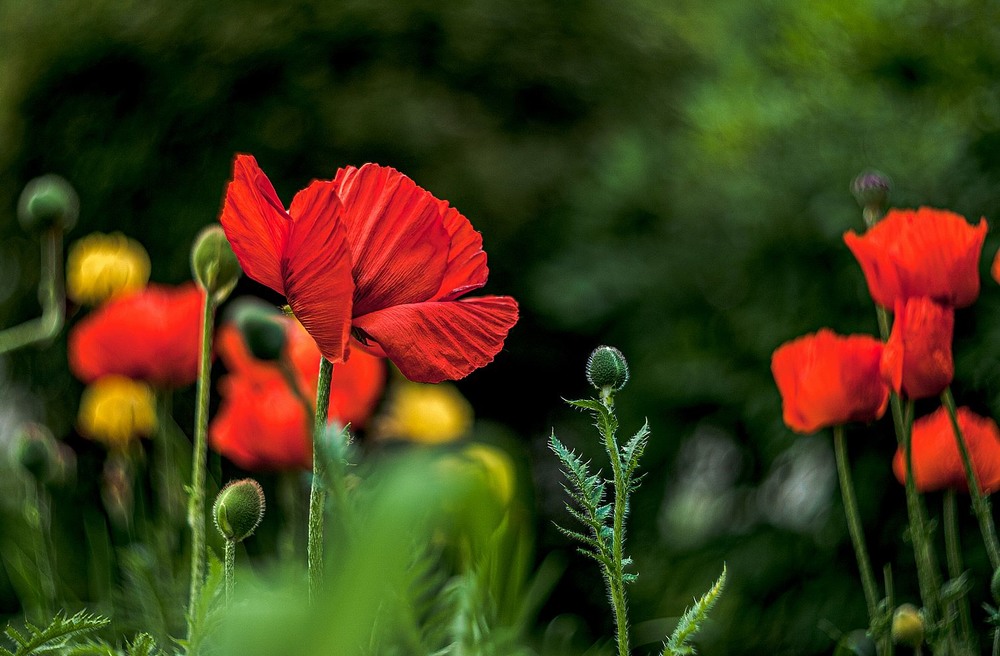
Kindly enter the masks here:
[[191, 637], [191, 614], [201, 596], [205, 581], [205, 467], [208, 459], [208, 393], [212, 370], [212, 329], [215, 303], [204, 298], [201, 321], [201, 346], [198, 360], [198, 386], [194, 421], [194, 451], [191, 456], [191, 489], [188, 500], [188, 525], [191, 527], [191, 591], [188, 597], [188, 638]]

